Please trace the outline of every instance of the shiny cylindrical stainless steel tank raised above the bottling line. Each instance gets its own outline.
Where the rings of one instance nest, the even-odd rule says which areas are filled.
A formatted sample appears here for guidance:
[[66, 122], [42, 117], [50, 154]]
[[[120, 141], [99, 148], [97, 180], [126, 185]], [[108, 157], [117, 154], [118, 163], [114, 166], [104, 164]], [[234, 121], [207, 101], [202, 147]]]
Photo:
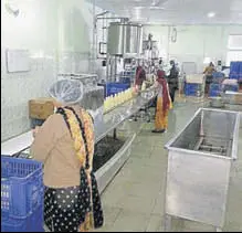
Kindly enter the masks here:
[[107, 53], [111, 55], [141, 53], [143, 27], [112, 22], [108, 28]]

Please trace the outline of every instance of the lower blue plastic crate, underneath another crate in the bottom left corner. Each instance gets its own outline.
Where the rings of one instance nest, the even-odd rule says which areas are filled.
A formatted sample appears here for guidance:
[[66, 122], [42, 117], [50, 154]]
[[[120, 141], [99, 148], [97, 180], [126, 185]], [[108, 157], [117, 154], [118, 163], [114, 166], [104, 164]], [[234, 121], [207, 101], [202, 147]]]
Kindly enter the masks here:
[[43, 205], [24, 219], [1, 218], [1, 232], [44, 232]]

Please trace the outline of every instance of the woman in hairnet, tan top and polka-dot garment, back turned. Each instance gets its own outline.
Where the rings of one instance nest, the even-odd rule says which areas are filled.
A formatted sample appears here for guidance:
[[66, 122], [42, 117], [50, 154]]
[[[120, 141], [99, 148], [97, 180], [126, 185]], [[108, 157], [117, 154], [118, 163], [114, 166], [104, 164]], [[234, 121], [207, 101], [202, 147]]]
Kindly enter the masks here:
[[44, 222], [53, 232], [82, 232], [103, 225], [97, 183], [92, 171], [94, 126], [78, 104], [80, 81], [59, 81], [50, 95], [64, 107], [34, 131], [31, 153], [44, 165]]

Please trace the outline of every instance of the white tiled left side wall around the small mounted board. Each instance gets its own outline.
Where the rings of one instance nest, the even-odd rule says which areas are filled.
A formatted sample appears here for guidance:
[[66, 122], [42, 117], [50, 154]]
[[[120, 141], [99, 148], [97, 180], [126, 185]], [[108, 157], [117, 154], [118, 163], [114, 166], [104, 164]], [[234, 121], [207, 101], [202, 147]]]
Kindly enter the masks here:
[[[28, 102], [48, 96], [59, 72], [88, 72], [93, 7], [84, 0], [15, 0], [14, 18], [1, 1], [1, 140], [30, 129]], [[96, 12], [99, 12], [97, 9]], [[27, 49], [31, 71], [8, 73], [6, 49]]]

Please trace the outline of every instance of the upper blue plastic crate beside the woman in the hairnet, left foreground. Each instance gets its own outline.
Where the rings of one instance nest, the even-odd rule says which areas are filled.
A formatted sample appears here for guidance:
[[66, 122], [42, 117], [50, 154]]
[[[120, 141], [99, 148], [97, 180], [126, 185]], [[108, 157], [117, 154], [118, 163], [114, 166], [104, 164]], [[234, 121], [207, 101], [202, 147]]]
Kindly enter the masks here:
[[43, 192], [41, 162], [1, 157], [1, 215], [3, 220], [25, 219], [32, 214], [43, 205]]

